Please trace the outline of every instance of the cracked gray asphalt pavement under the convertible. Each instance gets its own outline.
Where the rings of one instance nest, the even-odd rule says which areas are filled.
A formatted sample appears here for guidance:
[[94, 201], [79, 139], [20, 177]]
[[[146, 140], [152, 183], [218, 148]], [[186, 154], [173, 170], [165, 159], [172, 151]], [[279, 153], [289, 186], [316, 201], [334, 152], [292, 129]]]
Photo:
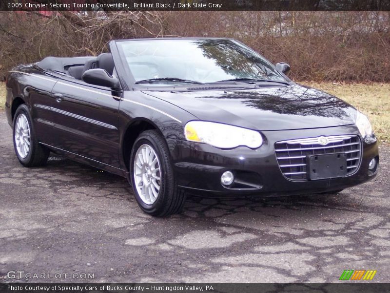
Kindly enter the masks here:
[[[18, 162], [0, 112], [0, 282], [11, 270], [94, 273], [112, 282], [338, 282], [390, 279], [390, 148], [379, 175], [337, 195], [189, 198], [181, 215], [144, 214], [126, 179], [51, 156]], [[19, 281], [26, 281], [25, 278]]]

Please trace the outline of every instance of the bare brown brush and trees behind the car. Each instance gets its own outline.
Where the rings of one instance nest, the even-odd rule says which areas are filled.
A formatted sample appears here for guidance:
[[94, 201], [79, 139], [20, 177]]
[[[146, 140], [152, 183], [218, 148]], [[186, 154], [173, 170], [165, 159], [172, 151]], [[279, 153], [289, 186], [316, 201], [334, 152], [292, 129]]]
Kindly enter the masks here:
[[389, 11], [0, 11], [0, 77], [46, 56], [94, 56], [112, 39], [230, 37], [294, 80], [389, 82]]

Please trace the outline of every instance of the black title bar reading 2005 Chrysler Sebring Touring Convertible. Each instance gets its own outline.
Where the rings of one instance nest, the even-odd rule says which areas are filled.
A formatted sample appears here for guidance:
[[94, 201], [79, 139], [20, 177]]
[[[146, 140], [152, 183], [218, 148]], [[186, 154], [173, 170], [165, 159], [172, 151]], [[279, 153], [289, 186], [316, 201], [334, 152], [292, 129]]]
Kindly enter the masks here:
[[1, 0], [0, 10], [387, 11], [390, 0]]

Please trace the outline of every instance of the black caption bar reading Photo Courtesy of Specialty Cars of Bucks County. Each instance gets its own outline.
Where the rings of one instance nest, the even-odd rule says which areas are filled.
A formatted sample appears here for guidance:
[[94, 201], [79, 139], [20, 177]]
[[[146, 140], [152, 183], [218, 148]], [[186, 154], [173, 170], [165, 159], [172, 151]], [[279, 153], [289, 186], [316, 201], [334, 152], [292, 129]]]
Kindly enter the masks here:
[[1, 293], [389, 293], [390, 283], [3, 283]]

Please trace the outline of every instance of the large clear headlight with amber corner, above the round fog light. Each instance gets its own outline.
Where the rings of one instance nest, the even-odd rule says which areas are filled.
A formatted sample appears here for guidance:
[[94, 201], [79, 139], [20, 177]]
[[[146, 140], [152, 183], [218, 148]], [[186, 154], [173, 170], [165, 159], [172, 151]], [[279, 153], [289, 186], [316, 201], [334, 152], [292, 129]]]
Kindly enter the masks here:
[[215, 122], [190, 121], [184, 126], [184, 134], [188, 141], [219, 148], [256, 148], [263, 144], [263, 138], [257, 131]]

